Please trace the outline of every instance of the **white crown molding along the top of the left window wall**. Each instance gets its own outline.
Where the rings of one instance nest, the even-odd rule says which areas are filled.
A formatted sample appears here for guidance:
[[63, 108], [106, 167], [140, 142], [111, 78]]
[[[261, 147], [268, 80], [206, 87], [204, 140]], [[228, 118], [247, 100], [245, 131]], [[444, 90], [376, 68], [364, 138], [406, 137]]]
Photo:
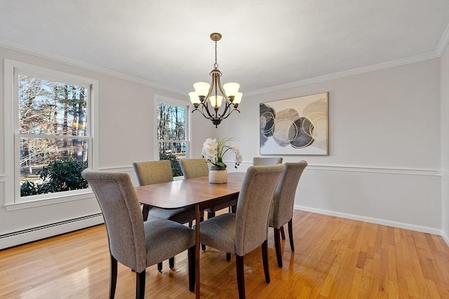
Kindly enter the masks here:
[[0, 39], [0, 46], [4, 47], [4, 48], [11, 49], [11, 50], [16, 50], [16, 51], [19, 51], [19, 52], [22, 52], [22, 53], [25, 53], [25, 54], [38, 56], [38, 57], [45, 58], [45, 59], [48, 59], [48, 60], [53, 60], [55, 62], [62, 62], [62, 63], [65, 63], [65, 64], [69, 64], [72, 67], [79, 67], [81, 69], [86, 69], [88, 71], [95, 71], [97, 73], [104, 74], [104, 75], [107, 75], [107, 76], [112, 76], [114, 78], [119, 78], [119, 79], [122, 79], [122, 80], [125, 80], [125, 81], [138, 83], [138, 84], [141, 84], [141, 85], [148, 86], [150, 88], [157, 88], [159, 90], [166, 90], [168, 92], [173, 92], [173, 93], [178, 94], [178, 95], [185, 95], [185, 92], [182, 92], [180, 90], [174, 90], [173, 88], [168, 88], [165, 85], [161, 85], [161, 84], [158, 84], [158, 83], [150, 82], [150, 81], [147, 81], [147, 80], [142, 79], [142, 78], [129, 76], [127, 74], [120, 73], [119, 71], [113, 71], [112, 69], [106, 69], [104, 67], [98, 67], [97, 65], [94, 65], [94, 64], [88, 64], [87, 62], [82, 62], [81, 60], [74, 60], [74, 59], [69, 58], [69, 57], [65, 57], [65, 56], [58, 55], [58, 54], [55, 54], [55, 53], [51, 53], [51, 52], [44, 51], [44, 50], [39, 50], [39, 49], [34, 48], [34, 47], [25, 46], [25, 45], [23, 45], [21, 43], [16, 43], [15, 41], [11, 41], [11, 40], [8, 40], [8, 39]]

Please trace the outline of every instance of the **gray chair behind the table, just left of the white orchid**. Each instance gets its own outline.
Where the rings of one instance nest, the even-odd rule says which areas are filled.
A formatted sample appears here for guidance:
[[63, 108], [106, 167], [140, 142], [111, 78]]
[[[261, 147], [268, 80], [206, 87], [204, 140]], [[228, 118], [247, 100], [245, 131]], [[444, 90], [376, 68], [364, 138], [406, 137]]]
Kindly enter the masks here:
[[[206, 159], [180, 159], [180, 167], [182, 174], [185, 179], [194, 179], [200, 176], [208, 176], [209, 175], [209, 167]], [[220, 209], [225, 209], [229, 207], [229, 211], [231, 207], [235, 206], [237, 200], [229, 200], [228, 202], [223, 202], [218, 204], [217, 206], [210, 207], [206, 209], [208, 213], [208, 218], [215, 217], [215, 212], [220, 211]]]

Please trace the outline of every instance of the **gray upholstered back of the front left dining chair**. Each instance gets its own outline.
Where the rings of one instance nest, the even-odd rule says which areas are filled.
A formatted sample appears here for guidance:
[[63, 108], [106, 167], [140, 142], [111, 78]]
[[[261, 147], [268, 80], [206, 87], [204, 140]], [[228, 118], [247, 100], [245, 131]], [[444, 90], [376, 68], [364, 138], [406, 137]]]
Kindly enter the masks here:
[[84, 169], [81, 175], [100, 204], [112, 256], [135, 272], [142, 272], [147, 266], [143, 216], [129, 175], [90, 169]]

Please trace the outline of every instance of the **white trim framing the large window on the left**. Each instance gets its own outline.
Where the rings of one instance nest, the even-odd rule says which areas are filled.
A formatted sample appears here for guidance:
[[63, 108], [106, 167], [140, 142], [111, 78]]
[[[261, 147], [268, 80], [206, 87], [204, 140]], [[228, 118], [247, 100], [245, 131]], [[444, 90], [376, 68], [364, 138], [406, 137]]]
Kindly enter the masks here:
[[[60, 83], [79, 84], [89, 86], [91, 95], [89, 97], [90, 104], [88, 105], [88, 123], [91, 125], [92, 144], [89, 144], [90, 156], [89, 167], [91, 169], [98, 169], [98, 141], [96, 132], [98, 130], [98, 81], [91, 78], [84, 78], [73, 74], [68, 74], [62, 71], [55, 71], [53, 69], [46, 69], [37, 67], [25, 62], [18, 62], [15, 60], [4, 59], [4, 137], [5, 137], [5, 204], [7, 211], [14, 211], [17, 209], [27, 209], [33, 207], [41, 207], [48, 204], [60, 204], [61, 202], [69, 202], [72, 200], [84, 200], [91, 197], [91, 188], [83, 190], [72, 190], [62, 193], [48, 193], [46, 195], [32, 195], [29, 200], [20, 199], [20, 186], [15, 184], [15, 169], [18, 153], [15, 153], [15, 133], [18, 132], [18, 120], [16, 118], [17, 105], [16, 94], [18, 87], [14, 84], [14, 74], [19, 71], [21, 74], [37, 74], [40, 78], [46, 78], [51, 81]], [[43, 76], [42, 74], [45, 74]], [[17, 123], [15, 123], [17, 122]]]

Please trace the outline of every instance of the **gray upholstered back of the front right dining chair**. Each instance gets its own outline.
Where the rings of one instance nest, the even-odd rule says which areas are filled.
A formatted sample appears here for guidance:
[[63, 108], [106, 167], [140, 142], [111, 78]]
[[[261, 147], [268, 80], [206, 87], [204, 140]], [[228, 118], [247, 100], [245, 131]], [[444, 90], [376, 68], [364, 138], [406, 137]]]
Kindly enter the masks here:
[[236, 207], [239, 256], [253, 251], [267, 239], [269, 209], [283, 169], [282, 164], [248, 168]]

